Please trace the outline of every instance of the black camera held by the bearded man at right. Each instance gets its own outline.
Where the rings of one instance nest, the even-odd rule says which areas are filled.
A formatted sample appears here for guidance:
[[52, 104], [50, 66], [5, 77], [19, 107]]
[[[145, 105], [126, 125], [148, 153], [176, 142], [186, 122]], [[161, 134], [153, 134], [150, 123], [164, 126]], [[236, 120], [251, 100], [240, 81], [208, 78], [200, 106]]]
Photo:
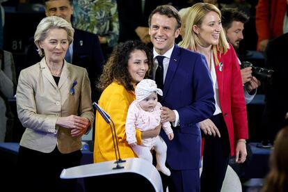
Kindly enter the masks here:
[[258, 80], [271, 82], [272, 74], [274, 72], [273, 70], [267, 70], [262, 67], [255, 67], [249, 61], [243, 61], [241, 64], [241, 69], [246, 67], [252, 67], [252, 76], [256, 77]]

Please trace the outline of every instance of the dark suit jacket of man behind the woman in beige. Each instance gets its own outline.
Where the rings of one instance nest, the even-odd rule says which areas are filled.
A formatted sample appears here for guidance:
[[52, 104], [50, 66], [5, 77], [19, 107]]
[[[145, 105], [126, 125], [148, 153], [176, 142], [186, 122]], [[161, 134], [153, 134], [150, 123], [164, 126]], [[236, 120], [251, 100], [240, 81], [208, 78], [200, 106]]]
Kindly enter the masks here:
[[[104, 64], [99, 38], [98, 35], [87, 31], [74, 30], [72, 64], [86, 68], [91, 84], [92, 101], [97, 101], [100, 93], [95, 88], [95, 82], [102, 74]], [[41, 61], [41, 57], [38, 54], [37, 47], [34, 44], [29, 45], [26, 51], [25, 67], [34, 65], [39, 61]]]

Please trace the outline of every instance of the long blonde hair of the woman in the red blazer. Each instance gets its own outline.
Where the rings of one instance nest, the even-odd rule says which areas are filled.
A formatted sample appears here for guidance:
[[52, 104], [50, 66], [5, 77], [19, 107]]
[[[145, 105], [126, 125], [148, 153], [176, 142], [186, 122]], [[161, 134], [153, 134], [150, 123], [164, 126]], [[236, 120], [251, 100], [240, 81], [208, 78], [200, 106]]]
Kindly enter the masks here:
[[[197, 51], [196, 45], [201, 45], [201, 42], [198, 38], [198, 35], [193, 31], [193, 26], [197, 25], [200, 27], [204, 17], [211, 11], [217, 13], [221, 18], [221, 11], [216, 6], [210, 3], [195, 3], [193, 6], [191, 6], [191, 8], [189, 8], [189, 11], [183, 16], [184, 19], [186, 19], [186, 27], [184, 36], [182, 36], [182, 41], [179, 42], [179, 46], [186, 49], [191, 49], [192, 51]], [[227, 52], [227, 49], [229, 49], [229, 44], [227, 42], [223, 29], [220, 31], [218, 45], [213, 45], [212, 49], [216, 65], [218, 65], [219, 61], [217, 58], [217, 51], [219, 51], [220, 54], [225, 54]]]

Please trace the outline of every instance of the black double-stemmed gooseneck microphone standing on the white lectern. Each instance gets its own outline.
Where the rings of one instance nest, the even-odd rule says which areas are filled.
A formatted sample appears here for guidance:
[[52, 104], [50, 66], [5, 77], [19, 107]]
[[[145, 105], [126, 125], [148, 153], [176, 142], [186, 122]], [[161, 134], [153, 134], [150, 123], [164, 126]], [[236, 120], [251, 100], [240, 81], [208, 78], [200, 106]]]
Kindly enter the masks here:
[[[117, 166], [113, 169], [118, 169], [118, 168], [124, 168], [123, 166], [120, 166], [119, 163], [125, 162], [125, 160], [122, 160], [120, 157], [120, 152], [119, 152], [119, 146], [118, 146], [118, 140], [117, 140], [117, 134], [116, 134], [116, 130], [115, 130], [115, 125], [113, 120], [111, 120], [110, 115], [104, 111], [104, 109], [102, 109], [99, 104], [97, 104], [96, 102], [92, 103], [93, 108], [96, 109], [100, 115], [102, 116], [102, 118], [104, 118], [104, 120], [106, 121], [106, 123], [110, 126], [111, 128], [111, 133], [112, 133], [112, 139], [113, 139], [113, 145], [114, 145], [114, 151], [115, 151], [115, 158], [116, 161], [115, 163], [117, 163]], [[111, 125], [112, 123], [112, 125]]]

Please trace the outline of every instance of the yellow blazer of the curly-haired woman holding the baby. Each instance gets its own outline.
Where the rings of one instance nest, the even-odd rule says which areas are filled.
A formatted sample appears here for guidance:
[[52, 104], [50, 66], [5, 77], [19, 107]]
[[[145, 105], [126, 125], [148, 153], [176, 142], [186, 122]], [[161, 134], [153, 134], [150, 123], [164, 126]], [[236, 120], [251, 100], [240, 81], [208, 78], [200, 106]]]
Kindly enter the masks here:
[[[137, 157], [126, 141], [125, 123], [131, 102], [136, 99], [134, 92], [113, 82], [102, 93], [99, 106], [106, 111], [114, 122], [121, 159]], [[138, 144], [141, 145], [141, 131], [136, 131]], [[97, 112], [95, 120], [94, 162], [115, 160], [115, 151], [110, 126]]]

